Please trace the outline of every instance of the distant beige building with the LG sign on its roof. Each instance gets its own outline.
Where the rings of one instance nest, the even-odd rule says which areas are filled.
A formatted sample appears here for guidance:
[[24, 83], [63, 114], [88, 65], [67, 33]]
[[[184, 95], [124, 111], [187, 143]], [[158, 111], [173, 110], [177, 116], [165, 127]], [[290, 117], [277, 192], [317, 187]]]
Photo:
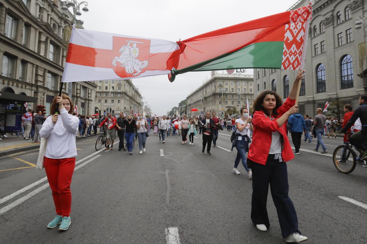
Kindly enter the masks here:
[[[253, 83], [253, 75], [212, 72], [210, 79], [186, 97], [186, 111], [195, 116], [207, 111], [216, 112], [219, 117], [223, 117], [228, 108], [236, 107], [240, 110], [246, 106], [247, 98], [251, 108], [254, 101]], [[198, 111], [189, 112], [193, 108]]]

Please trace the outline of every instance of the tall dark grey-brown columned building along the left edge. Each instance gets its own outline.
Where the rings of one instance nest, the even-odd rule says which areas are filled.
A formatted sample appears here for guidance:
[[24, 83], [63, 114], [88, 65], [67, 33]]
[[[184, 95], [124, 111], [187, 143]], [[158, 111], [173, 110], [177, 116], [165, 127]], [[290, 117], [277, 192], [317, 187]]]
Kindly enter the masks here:
[[[22, 108], [29, 102], [32, 109], [44, 105], [49, 113], [66, 59], [64, 30], [73, 22], [73, 14], [61, 7], [61, 0], [0, 0], [0, 90], [7, 97], [16, 95], [11, 100], [0, 98], [1, 117], [6, 117], [9, 102], [22, 103]], [[82, 24], [76, 21], [77, 27]], [[69, 85], [72, 94], [68, 94]], [[92, 82], [73, 82], [65, 83], [63, 91], [90, 115], [96, 87]]]

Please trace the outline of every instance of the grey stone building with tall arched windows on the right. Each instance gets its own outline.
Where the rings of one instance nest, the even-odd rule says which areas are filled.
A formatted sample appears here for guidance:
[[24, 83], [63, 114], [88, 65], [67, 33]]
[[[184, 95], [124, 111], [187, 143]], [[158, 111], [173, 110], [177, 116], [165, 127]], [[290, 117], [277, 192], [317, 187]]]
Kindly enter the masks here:
[[[300, 0], [292, 9], [308, 4], [308, 0]], [[355, 23], [357, 16], [366, 15], [367, 1], [316, 0], [312, 7], [299, 112], [315, 116], [317, 108], [335, 100], [356, 107], [367, 83], [359, 77], [366, 73], [366, 64], [362, 67], [360, 61], [366, 58], [366, 32], [355, 29]], [[254, 69], [255, 94], [271, 89], [285, 100], [296, 74], [293, 70]]]

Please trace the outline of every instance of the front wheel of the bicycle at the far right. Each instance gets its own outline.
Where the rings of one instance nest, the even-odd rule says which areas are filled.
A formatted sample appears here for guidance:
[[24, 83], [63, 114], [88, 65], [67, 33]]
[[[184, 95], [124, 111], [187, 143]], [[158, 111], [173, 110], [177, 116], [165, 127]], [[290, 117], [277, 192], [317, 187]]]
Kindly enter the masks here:
[[343, 174], [349, 174], [356, 168], [356, 154], [348, 145], [335, 148], [333, 153], [335, 168]]

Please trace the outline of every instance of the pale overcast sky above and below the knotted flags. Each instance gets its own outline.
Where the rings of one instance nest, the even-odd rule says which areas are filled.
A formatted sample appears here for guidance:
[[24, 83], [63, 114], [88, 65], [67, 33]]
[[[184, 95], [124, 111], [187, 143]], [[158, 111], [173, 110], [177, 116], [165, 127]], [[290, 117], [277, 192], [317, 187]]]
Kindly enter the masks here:
[[[169, 41], [185, 40], [198, 34], [220, 29], [248, 20], [286, 11], [297, 0], [87, 0], [89, 12], [77, 19], [84, 29], [158, 38]], [[252, 74], [252, 70], [247, 70]], [[173, 83], [167, 75], [132, 79], [143, 101], [153, 113], [163, 115], [186, 98], [210, 71], [177, 75]]]

